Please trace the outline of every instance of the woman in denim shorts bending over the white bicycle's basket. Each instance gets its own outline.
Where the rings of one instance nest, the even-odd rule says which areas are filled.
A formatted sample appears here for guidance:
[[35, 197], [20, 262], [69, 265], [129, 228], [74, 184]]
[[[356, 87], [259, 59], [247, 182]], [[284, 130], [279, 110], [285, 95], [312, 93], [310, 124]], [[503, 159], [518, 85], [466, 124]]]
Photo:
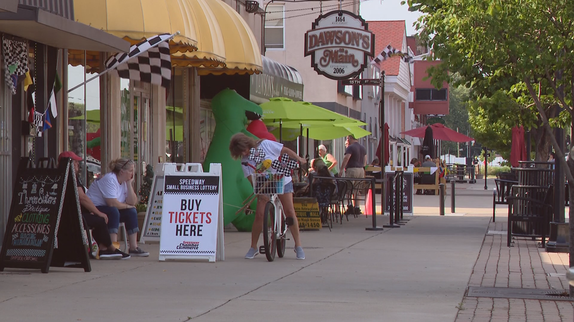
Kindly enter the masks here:
[[[253, 160], [249, 160], [247, 156], [249, 155], [249, 150], [251, 148], [262, 148], [265, 152], [265, 159], [277, 160], [282, 154], [289, 155], [290, 158], [297, 160], [300, 164], [307, 163], [307, 160], [300, 158], [293, 150], [286, 148], [283, 144], [274, 142], [271, 140], [255, 140], [243, 133], [237, 133], [231, 137], [231, 142], [229, 144], [229, 151], [231, 152], [231, 157], [234, 159], [241, 159], [241, 162], [247, 162], [251, 166], [257, 167], [257, 164]], [[251, 182], [251, 174], [254, 173], [253, 168], [242, 166], [243, 174]], [[274, 172], [274, 169], [270, 169]], [[253, 182], [251, 182], [253, 184]], [[297, 222], [297, 216], [295, 215], [295, 208], [293, 207], [293, 182], [290, 176], [285, 176], [284, 179], [284, 193], [278, 195], [283, 205], [283, 210], [285, 211], [285, 217], [293, 218], [290, 222], [289, 230], [295, 241], [295, 253], [297, 254], [298, 260], [305, 259], [305, 253], [301, 247], [301, 241], [299, 239], [299, 224]], [[266, 195], [257, 196], [257, 209], [255, 210], [255, 221], [251, 227], [251, 248], [245, 255], [245, 258], [251, 259], [259, 254], [259, 248], [257, 247], [257, 242], [259, 241], [259, 235], [263, 230], [263, 211], [265, 211], [265, 204], [269, 201], [269, 197]]]

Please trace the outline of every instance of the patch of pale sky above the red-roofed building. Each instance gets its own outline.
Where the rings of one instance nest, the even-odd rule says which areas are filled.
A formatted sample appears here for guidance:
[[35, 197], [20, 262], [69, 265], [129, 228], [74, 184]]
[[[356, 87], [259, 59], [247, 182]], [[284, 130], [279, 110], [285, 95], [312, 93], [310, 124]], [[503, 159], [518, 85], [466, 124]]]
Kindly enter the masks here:
[[416, 33], [413, 22], [421, 13], [410, 12], [408, 5], [401, 6], [401, 0], [370, 0], [361, 2], [360, 15], [365, 20], [404, 20], [406, 36], [412, 36]]

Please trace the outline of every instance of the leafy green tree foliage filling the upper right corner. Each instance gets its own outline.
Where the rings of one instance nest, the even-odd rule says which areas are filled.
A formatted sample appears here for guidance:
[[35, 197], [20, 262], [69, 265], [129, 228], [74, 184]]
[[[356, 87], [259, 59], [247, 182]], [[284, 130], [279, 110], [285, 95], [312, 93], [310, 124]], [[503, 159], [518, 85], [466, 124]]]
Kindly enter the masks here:
[[[540, 127], [537, 117], [553, 126], [567, 124], [574, 96], [574, 1], [406, 3], [423, 14], [416, 27], [432, 48], [430, 59], [441, 60], [427, 70], [433, 85], [449, 81], [471, 88], [475, 139], [506, 157], [514, 125]], [[568, 112], [554, 115], [549, 107], [557, 104]], [[545, 142], [544, 136], [537, 139], [537, 145]]]

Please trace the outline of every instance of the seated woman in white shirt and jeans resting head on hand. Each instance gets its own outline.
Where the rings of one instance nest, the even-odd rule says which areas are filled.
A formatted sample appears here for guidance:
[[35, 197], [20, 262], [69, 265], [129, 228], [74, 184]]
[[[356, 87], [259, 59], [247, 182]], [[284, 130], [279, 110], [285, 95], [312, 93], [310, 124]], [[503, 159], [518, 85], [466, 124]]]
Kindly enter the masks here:
[[129, 239], [130, 256], [149, 256], [138, 247], [138, 213], [135, 204], [138, 197], [133, 188], [134, 162], [119, 158], [110, 162], [111, 172], [96, 179], [88, 189], [86, 195], [94, 202], [96, 208], [108, 217], [108, 229], [113, 242], [118, 241], [119, 223], [126, 225]]

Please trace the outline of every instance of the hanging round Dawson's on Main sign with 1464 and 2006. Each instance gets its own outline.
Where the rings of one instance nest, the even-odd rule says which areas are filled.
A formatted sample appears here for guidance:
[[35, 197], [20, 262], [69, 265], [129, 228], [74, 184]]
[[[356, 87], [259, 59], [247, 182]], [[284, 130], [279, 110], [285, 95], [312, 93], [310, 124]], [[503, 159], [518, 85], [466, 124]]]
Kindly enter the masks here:
[[375, 55], [375, 35], [349, 11], [320, 15], [305, 33], [305, 56], [315, 71], [333, 80], [358, 76]]

